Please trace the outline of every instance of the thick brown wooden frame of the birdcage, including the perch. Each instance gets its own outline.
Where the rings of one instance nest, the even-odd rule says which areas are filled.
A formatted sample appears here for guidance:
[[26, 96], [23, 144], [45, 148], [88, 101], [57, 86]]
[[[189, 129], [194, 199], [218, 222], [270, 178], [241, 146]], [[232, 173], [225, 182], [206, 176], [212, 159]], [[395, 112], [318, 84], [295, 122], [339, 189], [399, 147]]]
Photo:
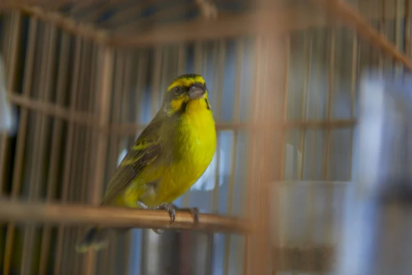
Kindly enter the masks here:
[[[39, 0], [40, 1], [40, 0]], [[115, 0], [111, 0], [115, 1]], [[109, 3], [111, 2], [109, 1]], [[196, 19], [192, 23], [176, 23], [173, 25], [165, 25], [155, 30], [150, 30], [139, 36], [121, 36], [118, 34], [109, 34], [105, 30], [100, 30], [95, 28], [93, 25], [87, 23], [78, 23], [74, 19], [62, 16], [58, 12], [52, 10], [44, 10], [42, 8], [36, 7], [36, 1], [13, 1], [13, 0], [3, 0], [0, 2], [0, 8], [5, 8], [8, 10], [19, 10], [24, 14], [30, 15], [30, 17], [36, 18], [41, 21], [46, 21], [52, 23], [58, 28], [61, 28], [65, 32], [76, 34], [76, 36], [81, 36], [84, 39], [90, 39], [98, 43], [100, 47], [100, 52], [98, 58], [102, 62], [102, 70], [100, 74], [103, 80], [100, 98], [100, 115], [91, 117], [89, 114], [82, 114], [79, 112], [74, 113], [70, 109], [60, 108], [54, 104], [48, 104], [47, 102], [39, 102], [38, 100], [33, 100], [27, 98], [23, 95], [14, 94], [12, 89], [8, 92], [8, 97], [11, 102], [23, 107], [30, 107], [35, 111], [43, 115], [54, 115], [57, 118], [70, 119], [71, 122], [76, 122], [79, 124], [84, 124], [88, 126], [95, 126], [95, 129], [100, 130], [98, 136], [97, 149], [98, 152], [97, 159], [106, 158], [106, 144], [108, 142], [109, 131], [115, 131], [119, 134], [124, 133], [135, 133], [137, 129], [141, 128], [141, 125], [111, 125], [108, 121], [108, 87], [113, 81], [110, 71], [113, 67], [113, 47], [139, 47], [146, 45], [157, 45], [161, 43], [170, 43], [179, 39], [181, 42], [198, 41], [201, 39], [220, 39], [227, 37], [236, 37], [246, 34], [254, 34], [257, 36], [271, 36], [273, 32], [273, 23], [278, 23], [278, 25], [287, 25], [287, 30], [293, 28], [302, 28], [304, 26], [317, 26], [325, 25], [330, 21], [328, 18], [305, 18], [303, 21], [293, 21], [293, 16], [291, 14], [297, 14], [299, 11], [291, 10], [286, 12], [286, 14], [281, 14], [276, 17], [276, 21], [273, 19], [273, 14], [278, 14], [276, 7], [269, 7], [265, 10], [258, 10], [248, 14], [224, 14], [222, 17], [214, 21], [209, 21], [205, 23], [202, 19]], [[334, 17], [339, 19], [343, 24], [352, 28], [359, 36], [363, 39], [369, 41], [371, 45], [374, 45], [386, 56], [389, 56], [396, 63], [404, 66], [404, 68], [410, 70], [412, 69], [412, 62], [408, 54], [410, 52], [407, 50], [406, 53], [398, 50], [396, 45], [393, 45], [387, 39], [385, 39], [378, 30], [373, 28], [367, 19], [361, 16], [361, 14], [350, 6], [350, 4], [345, 3], [342, 0], [311, 0], [318, 8], [325, 10], [326, 12], [332, 14]], [[409, 1], [407, 1], [409, 3]], [[302, 14], [304, 17], [304, 15]], [[374, 14], [371, 15], [374, 17]], [[405, 17], [410, 21], [409, 14]], [[271, 22], [271, 24], [268, 24]], [[191, 31], [196, 30], [196, 32]], [[280, 30], [280, 32], [285, 32], [286, 30]], [[12, 41], [10, 45], [16, 43], [16, 37], [12, 36]], [[407, 40], [407, 49], [411, 46], [411, 42]], [[15, 56], [13, 51], [11, 56]], [[13, 69], [11, 70], [14, 71]], [[12, 76], [10, 76], [12, 77]], [[258, 81], [257, 81], [258, 83]], [[258, 84], [256, 84], [258, 85]], [[276, 95], [274, 95], [276, 96]], [[286, 100], [286, 99], [284, 99]], [[269, 128], [279, 130], [283, 133], [286, 129], [333, 129], [335, 127], [341, 126], [354, 126], [356, 124], [356, 119], [352, 116], [350, 120], [332, 120], [330, 115], [328, 115], [328, 120], [322, 121], [297, 121], [297, 122], [273, 122], [265, 121], [263, 124], [258, 123], [258, 117], [265, 116], [265, 110], [259, 109], [259, 102], [256, 102], [254, 118], [255, 121], [252, 124], [238, 124], [236, 127], [238, 129], [262, 129]], [[285, 115], [284, 115], [285, 116]], [[227, 125], [224, 123], [218, 124], [218, 129], [225, 129]], [[5, 144], [5, 136], [3, 135], [3, 142]], [[256, 148], [253, 150], [259, 152], [264, 156], [264, 148]], [[0, 148], [0, 152], [4, 151], [4, 147]], [[327, 153], [326, 153], [327, 154]], [[248, 234], [247, 238], [247, 261], [244, 264], [244, 270], [253, 270], [253, 274], [265, 274], [266, 268], [270, 266], [270, 260], [265, 254], [268, 251], [267, 245], [267, 230], [268, 225], [264, 222], [265, 217], [267, 217], [267, 203], [268, 198], [265, 195], [265, 181], [271, 180], [273, 176], [273, 171], [270, 166], [264, 164], [264, 160], [269, 156], [262, 157], [259, 162], [256, 159], [251, 160], [251, 162], [258, 162], [260, 166], [260, 171], [262, 175], [252, 175], [249, 182], [249, 188], [251, 188], [251, 182], [255, 184], [249, 190], [249, 214], [251, 217], [251, 209], [255, 209], [255, 217], [253, 221], [260, 221], [259, 223], [252, 224], [249, 220], [238, 219], [235, 217], [221, 217], [215, 214], [201, 214], [200, 223], [196, 230], [207, 230], [212, 232], [239, 232], [241, 234]], [[284, 151], [279, 155], [279, 158], [284, 157]], [[283, 163], [280, 161], [279, 163]], [[0, 159], [0, 175], [3, 171], [3, 158]], [[103, 160], [96, 164], [95, 175], [102, 175], [101, 171], [104, 169]], [[279, 168], [280, 178], [282, 179], [283, 168]], [[95, 182], [102, 182], [102, 177], [97, 177]], [[260, 181], [257, 183], [257, 181]], [[258, 188], [256, 187], [258, 186]], [[92, 201], [95, 204], [99, 203], [100, 197], [98, 192], [102, 189], [102, 184], [95, 184], [96, 192], [95, 197]], [[36, 190], [33, 191], [34, 193]], [[113, 208], [97, 208], [95, 206], [76, 206], [76, 205], [66, 205], [60, 203], [34, 203], [34, 202], [23, 202], [15, 200], [16, 192], [12, 191], [12, 197], [1, 198], [0, 199], [0, 219], [3, 221], [8, 221], [11, 223], [19, 222], [42, 222], [42, 223], [58, 223], [58, 224], [99, 224], [99, 225], [111, 225], [111, 226], [130, 226], [138, 228], [153, 228], [166, 225], [169, 221], [168, 214], [156, 210], [128, 210], [128, 209], [113, 209]], [[251, 196], [254, 198], [251, 199]], [[76, 212], [76, 216], [72, 213]], [[106, 221], [107, 217], [111, 217], [111, 221]], [[182, 228], [188, 229], [193, 228], [193, 221], [190, 214], [187, 212], [177, 212], [176, 221], [172, 228]], [[253, 240], [253, 241], [252, 241]], [[95, 261], [95, 256], [93, 254], [89, 255], [87, 273], [93, 274], [93, 262]]]

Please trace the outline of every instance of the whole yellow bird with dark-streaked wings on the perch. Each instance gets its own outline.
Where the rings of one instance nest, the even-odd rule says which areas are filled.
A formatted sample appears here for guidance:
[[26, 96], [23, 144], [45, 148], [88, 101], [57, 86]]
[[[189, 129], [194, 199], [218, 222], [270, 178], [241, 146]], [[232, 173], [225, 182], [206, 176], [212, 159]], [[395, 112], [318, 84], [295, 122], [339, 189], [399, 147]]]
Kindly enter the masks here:
[[[172, 201], [203, 175], [215, 150], [216, 126], [205, 80], [198, 74], [179, 76], [165, 91], [155, 118], [119, 164], [102, 205], [163, 209], [172, 224], [176, 208]], [[196, 220], [196, 208], [191, 212]], [[108, 228], [90, 228], [76, 250], [106, 247], [108, 232]]]

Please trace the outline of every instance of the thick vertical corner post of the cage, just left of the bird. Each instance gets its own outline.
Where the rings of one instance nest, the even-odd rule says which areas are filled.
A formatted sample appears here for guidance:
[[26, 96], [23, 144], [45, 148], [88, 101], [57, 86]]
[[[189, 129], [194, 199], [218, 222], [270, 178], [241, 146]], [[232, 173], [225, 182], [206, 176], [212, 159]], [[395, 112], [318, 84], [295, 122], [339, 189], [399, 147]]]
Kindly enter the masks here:
[[[101, 62], [100, 74], [97, 76], [97, 81], [100, 83], [100, 85], [98, 85], [98, 91], [100, 91], [100, 102], [98, 102], [98, 125], [100, 129], [106, 129], [110, 122], [110, 99], [113, 82], [113, 49], [102, 46], [99, 49], [98, 54], [98, 61]], [[91, 186], [91, 203], [95, 205], [98, 205], [102, 199], [107, 144], [108, 134], [104, 131], [100, 131], [95, 151], [94, 180], [93, 185]], [[95, 274], [95, 257], [96, 254], [94, 251], [88, 252], [84, 270], [85, 274]]]

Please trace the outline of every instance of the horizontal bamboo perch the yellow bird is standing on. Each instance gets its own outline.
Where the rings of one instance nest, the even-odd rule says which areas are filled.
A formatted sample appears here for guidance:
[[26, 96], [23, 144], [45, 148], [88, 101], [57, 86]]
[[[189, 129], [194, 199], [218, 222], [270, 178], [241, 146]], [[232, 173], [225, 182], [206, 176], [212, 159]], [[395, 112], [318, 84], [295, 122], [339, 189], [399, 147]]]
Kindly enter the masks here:
[[[101, 225], [111, 228], [163, 228], [170, 216], [163, 210], [83, 206], [78, 204], [36, 203], [0, 199], [0, 221], [15, 223], [47, 223], [71, 225]], [[216, 214], [199, 214], [194, 225], [190, 212], [176, 211], [173, 229], [247, 234], [252, 225], [245, 219]]]

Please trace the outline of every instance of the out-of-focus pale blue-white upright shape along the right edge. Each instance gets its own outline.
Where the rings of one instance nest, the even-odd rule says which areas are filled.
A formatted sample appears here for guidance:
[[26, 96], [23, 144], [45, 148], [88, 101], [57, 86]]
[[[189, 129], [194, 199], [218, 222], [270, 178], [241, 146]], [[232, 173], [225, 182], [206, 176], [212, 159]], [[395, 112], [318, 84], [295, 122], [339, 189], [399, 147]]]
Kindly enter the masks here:
[[[412, 79], [363, 77], [356, 203], [339, 274], [412, 274]], [[357, 163], [356, 163], [357, 162]]]

